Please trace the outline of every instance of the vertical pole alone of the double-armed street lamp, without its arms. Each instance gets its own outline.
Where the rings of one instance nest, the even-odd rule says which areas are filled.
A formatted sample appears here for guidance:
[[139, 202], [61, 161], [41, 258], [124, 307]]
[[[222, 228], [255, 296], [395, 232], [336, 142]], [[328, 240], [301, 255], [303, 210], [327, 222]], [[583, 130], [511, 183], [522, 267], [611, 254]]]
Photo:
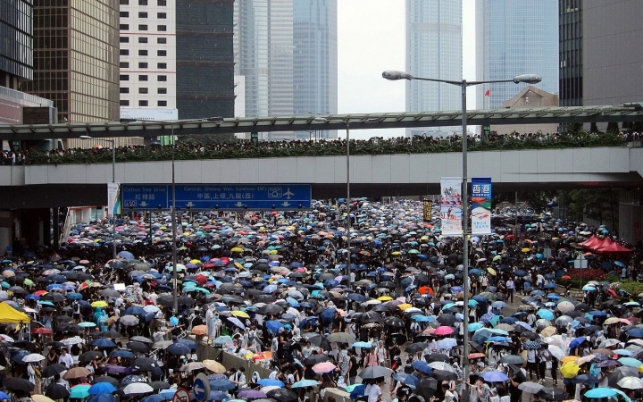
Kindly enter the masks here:
[[467, 178], [467, 122], [466, 122], [466, 80], [462, 81], [462, 113], [463, 113], [463, 188], [462, 188], [462, 226], [463, 226], [463, 402], [469, 402], [469, 179]]

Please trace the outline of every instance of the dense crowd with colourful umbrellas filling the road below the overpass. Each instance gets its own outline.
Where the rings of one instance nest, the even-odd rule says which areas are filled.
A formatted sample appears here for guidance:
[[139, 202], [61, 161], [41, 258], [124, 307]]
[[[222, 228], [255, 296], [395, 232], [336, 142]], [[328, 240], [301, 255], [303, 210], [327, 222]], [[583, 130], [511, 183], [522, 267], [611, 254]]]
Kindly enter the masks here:
[[[4, 395], [161, 402], [205, 373], [207, 400], [228, 402], [340, 395], [331, 389], [368, 402], [454, 402], [467, 389], [479, 402], [640, 398], [639, 296], [617, 282], [583, 281], [584, 296], [564, 286], [575, 248], [611, 237], [604, 226], [536, 215], [516, 239], [495, 220], [467, 239], [464, 278], [463, 239], [423, 222], [420, 202], [354, 199], [349, 233], [341, 206], [313, 207], [180, 214], [177, 264], [163, 213], [119, 220], [114, 237], [109, 220], [79, 223], [60, 250], [7, 256]], [[639, 251], [585, 257], [625, 279]], [[20, 314], [31, 324], [4, 317]], [[204, 358], [219, 349], [244, 364]]]

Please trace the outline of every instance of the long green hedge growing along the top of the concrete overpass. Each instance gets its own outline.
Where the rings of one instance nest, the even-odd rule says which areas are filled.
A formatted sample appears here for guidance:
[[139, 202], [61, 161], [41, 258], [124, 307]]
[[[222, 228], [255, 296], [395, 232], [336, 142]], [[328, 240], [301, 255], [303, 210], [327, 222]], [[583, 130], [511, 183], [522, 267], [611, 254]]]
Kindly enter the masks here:
[[[470, 151], [504, 151], [520, 149], [555, 149], [578, 147], [622, 147], [624, 140], [612, 133], [568, 133], [542, 138], [500, 138], [487, 142], [470, 142]], [[351, 140], [351, 155], [433, 154], [462, 151], [462, 142], [436, 138], [372, 138]], [[178, 144], [174, 157], [177, 160], [244, 159], [288, 156], [346, 155], [345, 140], [263, 142], [188, 145]], [[27, 164], [111, 163], [110, 148], [73, 149], [61, 152], [32, 151], [26, 155]], [[117, 149], [117, 162], [167, 161], [171, 147], [121, 147]]]

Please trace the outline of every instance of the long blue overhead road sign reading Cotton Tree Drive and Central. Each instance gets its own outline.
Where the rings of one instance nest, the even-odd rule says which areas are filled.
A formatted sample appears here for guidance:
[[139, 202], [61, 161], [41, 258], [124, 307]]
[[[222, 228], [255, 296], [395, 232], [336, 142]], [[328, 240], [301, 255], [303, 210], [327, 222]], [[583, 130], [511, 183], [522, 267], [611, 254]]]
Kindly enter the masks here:
[[[177, 208], [196, 210], [295, 210], [311, 207], [310, 184], [177, 184]], [[172, 186], [121, 184], [122, 209], [170, 209]]]

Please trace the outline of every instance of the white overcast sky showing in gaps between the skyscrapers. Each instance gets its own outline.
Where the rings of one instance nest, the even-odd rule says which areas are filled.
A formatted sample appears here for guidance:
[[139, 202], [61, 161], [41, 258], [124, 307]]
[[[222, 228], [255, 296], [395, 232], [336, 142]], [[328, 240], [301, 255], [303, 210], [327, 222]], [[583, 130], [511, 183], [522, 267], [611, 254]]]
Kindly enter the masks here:
[[[475, 78], [474, 15], [475, 0], [463, 0], [467, 80]], [[384, 80], [385, 70], [405, 70], [405, 0], [338, 0], [338, 113], [404, 112], [404, 81]], [[475, 108], [474, 93], [470, 88], [470, 109]], [[404, 129], [351, 132], [351, 138], [404, 135]]]

